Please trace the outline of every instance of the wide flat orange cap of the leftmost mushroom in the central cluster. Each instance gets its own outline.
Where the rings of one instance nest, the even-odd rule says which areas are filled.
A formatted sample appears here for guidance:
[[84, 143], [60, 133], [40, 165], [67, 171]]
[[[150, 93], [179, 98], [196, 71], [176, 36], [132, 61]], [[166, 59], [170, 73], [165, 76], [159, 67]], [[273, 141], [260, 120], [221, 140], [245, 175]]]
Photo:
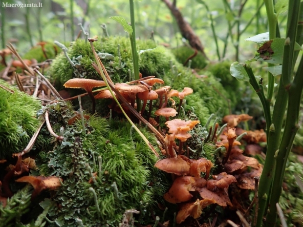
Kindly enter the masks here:
[[91, 91], [94, 87], [106, 86], [106, 83], [104, 81], [96, 81], [91, 79], [73, 78], [66, 81], [63, 86], [67, 88], [83, 88], [86, 91]]

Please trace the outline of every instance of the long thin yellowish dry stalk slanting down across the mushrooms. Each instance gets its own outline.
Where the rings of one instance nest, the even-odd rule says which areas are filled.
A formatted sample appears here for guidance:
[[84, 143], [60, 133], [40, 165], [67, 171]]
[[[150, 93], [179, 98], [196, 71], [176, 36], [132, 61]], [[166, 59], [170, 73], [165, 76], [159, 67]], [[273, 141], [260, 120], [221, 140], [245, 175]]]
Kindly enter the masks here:
[[[110, 92], [110, 94], [112, 95], [112, 97], [114, 98], [115, 102], [118, 104], [118, 106], [120, 107], [122, 113], [124, 114], [124, 116], [126, 117], [126, 119], [129, 121], [129, 123], [134, 127], [134, 129], [138, 132], [138, 134], [141, 136], [141, 138], [144, 140], [144, 142], [149, 146], [149, 147], [152, 147], [151, 143], [148, 141], [148, 139], [142, 134], [142, 132], [139, 130], [139, 128], [130, 120], [129, 116], [125, 113], [124, 109], [122, 108], [121, 104], [119, 103], [119, 101], [117, 100], [117, 98], [115, 97], [110, 85], [108, 84], [108, 80], [107, 78], [105, 77], [104, 73], [103, 73], [103, 70], [102, 70], [102, 67], [101, 67], [101, 64], [100, 64], [100, 59], [95, 51], [95, 48], [93, 46], [93, 41], [92, 39], [89, 39], [90, 41], [90, 45], [91, 45], [91, 48], [93, 50], [93, 54], [94, 54], [94, 57], [95, 57], [95, 60], [97, 62], [97, 65], [98, 65], [98, 68], [100, 70], [100, 73], [101, 73], [101, 77], [103, 79], [103, 81], [106, 83], [106, 86]], [[111, 83], [111, 82], [110, 82]], [[114, 84], [111, 84], [112, 86], [114, 86]], [[154, 149], [152, 149], [153, 152]]]

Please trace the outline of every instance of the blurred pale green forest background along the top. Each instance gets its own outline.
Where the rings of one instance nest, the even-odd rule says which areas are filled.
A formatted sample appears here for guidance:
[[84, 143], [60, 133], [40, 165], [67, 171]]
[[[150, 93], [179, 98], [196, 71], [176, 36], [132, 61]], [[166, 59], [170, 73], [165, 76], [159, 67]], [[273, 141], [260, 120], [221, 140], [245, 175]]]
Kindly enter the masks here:
[[[3, 3], [39, 3], [43, 7], [2, 7]], [[177, 23], [163, 0], [135, 2], [136, 36], [178, 47], [182, 39]], [[267, 17], [262, 0], [177, 0], [176, 6], [194, 29], [212, 61], [241, 61], [252, 56], [253, 42], [244, 39], [266, 32]], [[72, 10], [71, 10], [72, 9]], [[111, 16], [120, 15], [130, 21], [129, 2], [125, 0], [1, 0], [1, 45], [15, 42], [26, 53], [39, 41], [69, 42], [81, 30], [90, 36], [102, 35], [105, 23], [109, 35], [128, 36]], [[286, 14], [279, 22], [286, 23]], [[280, 32], [284, 34], [280, 24]]]

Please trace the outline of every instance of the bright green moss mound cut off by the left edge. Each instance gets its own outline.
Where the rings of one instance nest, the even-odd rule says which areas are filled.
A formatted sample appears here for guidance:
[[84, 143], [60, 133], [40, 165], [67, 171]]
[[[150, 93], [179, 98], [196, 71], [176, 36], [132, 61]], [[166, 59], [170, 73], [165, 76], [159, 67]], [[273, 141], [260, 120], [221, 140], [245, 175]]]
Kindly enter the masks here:
[[3, 80], [0, 84], [13, 91], [0, 87], [0, 158], [4, 158], [28, 144], [39, 125], [36, 113], [42, 105]]

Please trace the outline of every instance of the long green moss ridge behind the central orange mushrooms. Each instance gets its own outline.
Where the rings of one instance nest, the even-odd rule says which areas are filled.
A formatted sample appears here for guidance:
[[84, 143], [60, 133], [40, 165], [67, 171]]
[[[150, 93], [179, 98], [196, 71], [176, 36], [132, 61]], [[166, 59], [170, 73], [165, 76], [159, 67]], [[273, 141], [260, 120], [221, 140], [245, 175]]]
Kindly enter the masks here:
[[[118, 44], [120, 44], [121, 64]], [[97, 53], [102, 56], [102, 62], [113, 82], [130, 81], [128, 70], [133, 71], [133, 68], [128, 38], [102, 38], [101, 41], [94, 42], [94, 46]], [[156, 44], [151, 40], [137, 41], [138, 50], [154, 47]], [[63, 83], [75, 77], [100, 79], [100, 76], [91, 66], [94, 58], [88, 42], [84, 40], [73, 42], [68, 48], [68, 56], [75, 63], [75, 66], [72, 66], [62, 53], [54, 60], [49, 70], [50, 77], [57, 83], [57, 86], [62, 88]], [[147, 52], [142, 54], [139, 59], [139, 70], [143, 76], [154, 75], [162, 78], [166, 85], [173, 89], [182, 91], [184, 87], [193, 88], [194, 94], [187, 96], [186, 102], [184, 102], [185, 110], [195, 111], [201, 124], [205, 124], [210, 113], [216, 113], [218, 109], [220, 109], [219, 115], [228, 113], [228, 101], [225, 98], [228, 97], [228, 94], [222, 84], [212, 75], [200, 78], [192, 74], [191, 70], [175, 60], [174, 55], [169, 50], [165, 53]]]

